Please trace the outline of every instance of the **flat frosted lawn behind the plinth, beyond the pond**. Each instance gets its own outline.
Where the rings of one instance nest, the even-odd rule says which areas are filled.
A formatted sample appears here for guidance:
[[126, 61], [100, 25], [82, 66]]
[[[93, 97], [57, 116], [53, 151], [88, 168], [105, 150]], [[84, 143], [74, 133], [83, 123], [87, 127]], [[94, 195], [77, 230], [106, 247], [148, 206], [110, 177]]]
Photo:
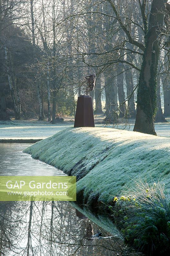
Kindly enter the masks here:
[[[101, 127], [100, 124], [103, 116], [95, 116], [96, 127]], [[155, 124], [155, 130], [158, 136], [170, 137], [170, 118], [167, 118], [169, 123]], [[50, 124], [43, 121], [12, 121], [2, 122], [0, 121], [0, 139], [45, 139], [54, 135], [56, 132], [60, 132], [66, 128], [73, 127], [74, 122], [70, 119], [66, 119], [63, 124]], [[130, 126], [129, 126], [130, 125]], [[129, 122], [126, 129], [133, 130], [134, 120]], [[112, 127], [109, 125], [108, 127]], [[122, 124], [115, 128], [122, 128]]]

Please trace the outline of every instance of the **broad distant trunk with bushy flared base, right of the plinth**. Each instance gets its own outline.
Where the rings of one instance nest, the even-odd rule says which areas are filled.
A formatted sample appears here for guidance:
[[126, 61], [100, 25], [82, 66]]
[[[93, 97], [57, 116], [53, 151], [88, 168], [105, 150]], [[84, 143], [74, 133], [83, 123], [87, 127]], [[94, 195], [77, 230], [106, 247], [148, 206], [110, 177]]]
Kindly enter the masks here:
[[114, 123], [118, 119], [118, 115], [115, 112], [116, 103], [115, 103], [115, 86], [113, 83], [113, 78], [106, 74], [105, 76], [105, 95], [106, 95], [106, 118], [104, 119], [107, 123]]

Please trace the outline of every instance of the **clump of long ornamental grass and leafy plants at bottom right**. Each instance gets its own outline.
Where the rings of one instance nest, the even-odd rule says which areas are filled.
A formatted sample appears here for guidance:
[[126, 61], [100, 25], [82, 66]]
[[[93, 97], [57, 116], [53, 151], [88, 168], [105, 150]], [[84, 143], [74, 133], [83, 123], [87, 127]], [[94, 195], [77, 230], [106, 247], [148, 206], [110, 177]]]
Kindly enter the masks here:
[[147, 255], [169, 255], [170, 202], [164, 184], [140, 182], [109, 208], [128, 246]]

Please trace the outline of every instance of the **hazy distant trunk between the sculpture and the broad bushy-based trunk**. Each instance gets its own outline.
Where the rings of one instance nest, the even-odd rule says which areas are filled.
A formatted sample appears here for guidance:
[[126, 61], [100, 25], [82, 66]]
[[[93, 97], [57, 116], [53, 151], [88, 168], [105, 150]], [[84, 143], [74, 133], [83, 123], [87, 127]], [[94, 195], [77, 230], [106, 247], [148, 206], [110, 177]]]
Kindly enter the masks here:
[[101, 105], [101, 77], [98, 76], [96, 80], [96, 86], [95, 86], [95, 114], [103, 114], [102, 111], [102, 105]]

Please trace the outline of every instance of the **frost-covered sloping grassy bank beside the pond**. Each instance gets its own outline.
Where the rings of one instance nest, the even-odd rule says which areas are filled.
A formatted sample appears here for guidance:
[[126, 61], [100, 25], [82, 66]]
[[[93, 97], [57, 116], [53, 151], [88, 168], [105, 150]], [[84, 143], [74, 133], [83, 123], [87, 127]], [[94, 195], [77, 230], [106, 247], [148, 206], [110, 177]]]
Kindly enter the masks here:
[[25, 150], [77, 176], [77, 199], [108, 204], [138, 180], [162, 181], [170, 192], [170, 139], [109, 128], [69, 128]]

